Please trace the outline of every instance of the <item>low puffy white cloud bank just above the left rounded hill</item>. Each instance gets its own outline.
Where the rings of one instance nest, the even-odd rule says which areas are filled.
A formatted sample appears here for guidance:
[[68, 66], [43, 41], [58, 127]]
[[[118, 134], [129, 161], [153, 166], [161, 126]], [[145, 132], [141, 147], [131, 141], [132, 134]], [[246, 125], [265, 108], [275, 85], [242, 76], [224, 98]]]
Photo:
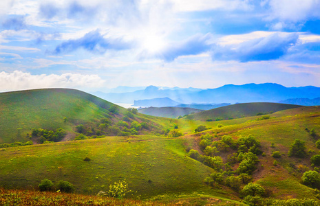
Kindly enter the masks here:
[[32, 75], [23, 71], [0, 72], [0, 91], [41, 88], [92, 89], [103, 87], [105, 81], [97, 75], [63, 73], [61, 75]]

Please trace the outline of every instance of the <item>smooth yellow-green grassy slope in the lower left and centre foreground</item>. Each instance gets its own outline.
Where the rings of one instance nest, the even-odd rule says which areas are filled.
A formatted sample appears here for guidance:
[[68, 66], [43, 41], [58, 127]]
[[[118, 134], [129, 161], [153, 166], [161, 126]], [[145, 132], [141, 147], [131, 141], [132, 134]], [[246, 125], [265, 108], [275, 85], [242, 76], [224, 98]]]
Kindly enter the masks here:
[[[186, 157], [184, 139], [106, 137], [1, 150], [0, 187], [37, 188], [41, 179], [69, 181], [76, 192], [97, 194], [126, 180], [134, 197], [233, 196], [212, 190], [204, 176], [213, 170]], [[89, 157], [91, 161], [84, 161]]]

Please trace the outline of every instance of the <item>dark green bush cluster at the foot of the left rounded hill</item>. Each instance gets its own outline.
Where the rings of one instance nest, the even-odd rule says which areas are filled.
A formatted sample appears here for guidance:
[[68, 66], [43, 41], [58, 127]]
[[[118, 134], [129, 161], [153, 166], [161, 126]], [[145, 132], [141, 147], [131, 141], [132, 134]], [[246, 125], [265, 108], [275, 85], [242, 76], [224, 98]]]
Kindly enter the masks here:
[[56, 130], [32, 128], [32, 137], [40, 137], [41, 144], [61, 141], [65, 135], [67, 135], [67, 132], [63, 128]]

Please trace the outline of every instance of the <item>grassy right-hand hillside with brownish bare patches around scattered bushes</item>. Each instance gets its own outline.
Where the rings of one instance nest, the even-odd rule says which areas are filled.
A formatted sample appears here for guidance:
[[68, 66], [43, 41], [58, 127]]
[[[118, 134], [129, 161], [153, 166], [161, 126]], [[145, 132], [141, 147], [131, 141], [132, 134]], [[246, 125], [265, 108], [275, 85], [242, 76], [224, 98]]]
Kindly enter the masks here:
[[[263, 185], [273, 198], [314, 198], [319, 197], [319, 192], [301, 184], [303, 172], [308, 170], [318, 170], [312, 165], [310, 158], [319, 154], [320, 150], [315, 142], [320, 138], [320, 106], [292, 108], [279, 111], [270, 115], [270, 119], [258, 119], [257, 117], [242, 118], [242, 122], [237, 119], [220, 121], [222, 127], [213, 126], [204, 133], [214, 135], [214, 141], [220, 141], [224, 135], [231, 136], [234, 141], [240, 137], [252, 135], [261, 143], [261, 150], [265, 155], [258, 155], [259, 162], [253, 172], [253, 182]], [[239, 119], [240, 120], [240, 119]], [[244, 121], [243, 121], [244, 120]], [[216, 123], [217, 124], [217, 123]], [[310, 130], [315, 131], [315, 135], [310, 135]], [[193, 138], [198, 139], [198, 133]], [[295, 139], [305, 141], [306, 157], [289, 157], [288, 151]], [[198, 145], [199, 146], [199, 145]], [[193, 146], [195, 150], [199, 147]], [[202, 150], [199, 150], [202, 151]], [[272, 157], [273, 152], [279, 151], [280, 158]], [[237, 152], [228, 148], [226, 151], [220, 148], [217, 156], [228, 163], [228, 155]], [[277, 163], [275, 163], [277, 161]], [[233, 170], [238, 166], [235, 163]]]

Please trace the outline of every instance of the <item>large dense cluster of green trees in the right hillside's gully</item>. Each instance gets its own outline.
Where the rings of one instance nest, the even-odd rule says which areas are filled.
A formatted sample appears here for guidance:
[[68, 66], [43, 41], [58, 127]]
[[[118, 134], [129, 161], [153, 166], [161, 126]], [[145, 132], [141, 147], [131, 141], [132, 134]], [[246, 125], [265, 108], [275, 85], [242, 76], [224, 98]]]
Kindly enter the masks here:
[[[251, 175], [259, 161], [257, 155], [262, 155], [260, 143], [255, 137], [248, 135], [233, 139], [224, 135], [218, 138], [217, 135], [213, 137], [206, 133], [200, 139], [199, 146], [204, 155], [191, 149], [188, 156], [216, 170], [211, 176], [206, 177], [206, 183], [213, 187], [220, 184], [239, 190], [242, 184], [247, 184], [252, 179]], [[218, 156], [224, 152], [233, 152], [228, 155], [226, 163]], [[239, 166], [233, 170], [235, 164]]]

